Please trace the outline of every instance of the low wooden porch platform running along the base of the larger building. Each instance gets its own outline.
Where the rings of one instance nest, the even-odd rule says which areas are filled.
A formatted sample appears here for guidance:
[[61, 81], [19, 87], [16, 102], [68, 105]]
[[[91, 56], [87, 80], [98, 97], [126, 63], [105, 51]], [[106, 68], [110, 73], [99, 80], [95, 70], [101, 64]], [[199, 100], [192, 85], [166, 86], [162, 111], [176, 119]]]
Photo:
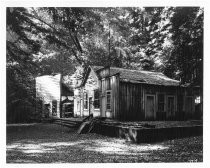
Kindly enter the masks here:
[[[55, 118], [53, 122], [66, 127], [79, 128], [80, 133], [94, 132], [123, 138], [134, 143], [203, 135], [202, 120], [123, 122], [96, 117], [90, 120], [87, 118]], [[83, 128], [85, 131], [81, 131]]]

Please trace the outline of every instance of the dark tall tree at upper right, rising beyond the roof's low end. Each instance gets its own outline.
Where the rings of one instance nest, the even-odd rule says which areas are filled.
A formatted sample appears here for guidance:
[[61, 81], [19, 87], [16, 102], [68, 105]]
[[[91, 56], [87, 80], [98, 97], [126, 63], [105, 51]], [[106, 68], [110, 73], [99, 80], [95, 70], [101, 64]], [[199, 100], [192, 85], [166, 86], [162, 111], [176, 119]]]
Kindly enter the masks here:
[[203, 9], [175, 8], [172, 22], [173, 56], [182, 83], [202, 85]]

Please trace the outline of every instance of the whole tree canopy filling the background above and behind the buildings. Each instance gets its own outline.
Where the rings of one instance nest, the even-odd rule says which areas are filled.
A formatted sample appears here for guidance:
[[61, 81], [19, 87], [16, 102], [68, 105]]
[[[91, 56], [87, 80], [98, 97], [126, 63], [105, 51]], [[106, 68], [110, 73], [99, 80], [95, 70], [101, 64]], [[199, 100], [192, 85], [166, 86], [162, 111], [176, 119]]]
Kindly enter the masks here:
[[202, 86], [203, 19], [200, 7], [7, 8], [7, 105], [31, 104], [37, 75], [78, 65], [155, 70]]

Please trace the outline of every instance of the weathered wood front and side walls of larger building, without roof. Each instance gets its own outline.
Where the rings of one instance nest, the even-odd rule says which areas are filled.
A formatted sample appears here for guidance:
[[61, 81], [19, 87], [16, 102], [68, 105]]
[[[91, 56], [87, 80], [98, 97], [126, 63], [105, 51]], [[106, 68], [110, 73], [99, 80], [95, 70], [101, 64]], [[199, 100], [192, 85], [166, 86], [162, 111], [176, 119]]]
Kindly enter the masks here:
[[[79, 92], [75, 92], [75, 114], [78, 116], [91, 113], [89, 101], [94, 101], [95, 89], [100, 91], [100, 109], [94, 108], [94, 116], [138, 121], [170, 120], [178, 119], [186, 110], [187, 115], [191, 115], [191, 109], [192, 113], [195, 111], [196, 94], [190, 88], [120, 81], [120, 74], [110, 74], [109, 68], [100, 69], [97, 75], [90, 69], [83, 82]], [[84, 109], [85, 92], [88, 93], [87, 109]], [[107, 109], [107, 92], [111, 93], [110, 109]]]

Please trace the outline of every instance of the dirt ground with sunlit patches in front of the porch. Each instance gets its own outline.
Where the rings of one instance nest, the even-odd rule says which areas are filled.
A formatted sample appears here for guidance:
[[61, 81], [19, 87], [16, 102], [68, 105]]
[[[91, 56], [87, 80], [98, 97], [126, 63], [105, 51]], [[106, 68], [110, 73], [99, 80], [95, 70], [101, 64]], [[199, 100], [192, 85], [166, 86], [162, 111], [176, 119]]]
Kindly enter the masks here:
[[55, 124], [7, 126], [7, 163], [201, 162], [202, 136], [131, 144]]

